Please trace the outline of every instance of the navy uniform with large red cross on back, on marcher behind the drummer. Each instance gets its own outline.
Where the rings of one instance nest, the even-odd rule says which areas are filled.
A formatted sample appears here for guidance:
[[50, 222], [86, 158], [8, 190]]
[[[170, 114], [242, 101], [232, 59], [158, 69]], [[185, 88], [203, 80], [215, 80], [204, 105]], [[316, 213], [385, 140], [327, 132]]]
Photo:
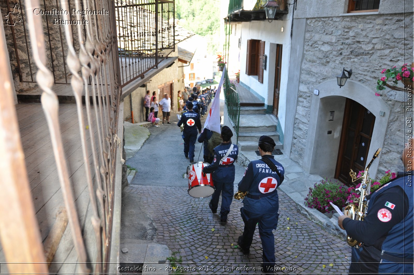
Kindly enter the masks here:
[[277, 188], [284, 180], [284, 168], [272, 155], [263, 155], [276, 165], [281, 177], [272, 171], [262, 160], [250, 162], [238, 183], [238, 190], [248, 191], [243, 199], [243, 207], [240, 209], [244, 221], [244, 232], [242, 237], [242, 249], [248, 251], [255, 233], [256, 224], [259, 223], [259, 234], [263, 248], [263, 272], [273, 273], [270, 268], [274, 267], [274, 235], [272, 230], [277, 227], [279, 214], [279, 196]]

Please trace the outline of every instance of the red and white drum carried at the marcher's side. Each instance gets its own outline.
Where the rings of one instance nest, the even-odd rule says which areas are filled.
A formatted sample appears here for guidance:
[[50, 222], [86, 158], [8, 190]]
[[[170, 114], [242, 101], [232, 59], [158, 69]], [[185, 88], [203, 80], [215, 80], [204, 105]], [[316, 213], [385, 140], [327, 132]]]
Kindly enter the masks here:
[[187, 167], [188, 195], [194, 198], [205, 198], [214, 194], [214, 183], [211, 174], [203, 174], [207, 162], [193, 162]]

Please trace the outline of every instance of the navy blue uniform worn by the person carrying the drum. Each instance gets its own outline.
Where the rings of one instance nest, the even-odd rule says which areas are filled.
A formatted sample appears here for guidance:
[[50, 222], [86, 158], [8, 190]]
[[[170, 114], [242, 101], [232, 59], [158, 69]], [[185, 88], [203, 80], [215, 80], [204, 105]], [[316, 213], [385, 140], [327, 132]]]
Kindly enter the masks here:
[[219, 205], [220, 193], [221, 195], [221, 208], [220, 208], [220, 219], [221, 221], [227, 220], [227, 215], [230, 212], [231, 201], [233, 200], [233, 183], [234, 183], [234, 174], [236, 173], [236, 168], [234, 167], [234, 162], [238, 156], [238, 147], [233, 145], [233, 150], [229, 156], [221, 161], [224, 155], [229, 151], [231, 142], [221, 143], [219, 146], [214, 148], [214, 157], [213, 162], [209, 166], [203, 169], [204, 173], [211, 174], [214, 181], [214, 187], [216, 191], [214, 192], [210, 200], [210, 209], [215, 211]]

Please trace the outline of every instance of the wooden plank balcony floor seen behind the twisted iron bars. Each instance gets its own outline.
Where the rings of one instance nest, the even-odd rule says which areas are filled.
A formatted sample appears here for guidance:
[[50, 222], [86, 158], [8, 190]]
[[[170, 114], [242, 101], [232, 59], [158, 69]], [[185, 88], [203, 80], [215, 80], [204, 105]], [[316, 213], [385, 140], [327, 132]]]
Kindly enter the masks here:
[[[91, 206], [87, 188], [85, 163], [79, 135], [79, 123], [76, 104], [60, 104], [59, 106], [60, 132], [62, 134], [63, 151], [67, 162], [70, 183], [75, 197], [79, 224], [83, 227], [87, 246], [88, 258], [96, 261], [96, 239], [91, 228]], [[56, 213], [60, 207], [64, 207], [63, 195], [58, 179], [55, 157], [52, 150], [46, 118], [40, 103], [21, 103], [16, 105], [17, 117], [25, 155], [26, 171], [33, 197], [36, 218], [39, 222], [41, 238], [44, 241], [56, 220]], [[91, 125], [86, 120], [86, 107], [83, 107], [87, 144], [89, 153], [89, 171], [94, 179], [95, 171], [90, 145], [90, 133], [94, 131], [95, 145], [98, 147], [98, 135], [96, 121], [94, 120], [93, 106], [91, 106]], [[99, 156], [98, 148], [95, 149]], [[96, 186], [95, 186], [96, 190]], [[51, 265], [52, 273], [75, 273], [77, 255], [73, 246], [69, 224], [60, 241]], [[0, 262], [5, 262], [2, 248], [0, 250]], [[67, 264], [63, 264], [67, 263]], [[6, 268], [1, 264], [2, 271]]]

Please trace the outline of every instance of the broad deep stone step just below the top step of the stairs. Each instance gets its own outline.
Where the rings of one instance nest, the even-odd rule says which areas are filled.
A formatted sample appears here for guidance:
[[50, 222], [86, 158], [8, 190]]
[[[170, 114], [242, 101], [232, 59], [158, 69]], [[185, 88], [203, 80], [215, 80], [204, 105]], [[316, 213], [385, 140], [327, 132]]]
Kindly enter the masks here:
[[272, 114], [240, 115], [239, 132], [274, 132], [277, 118]]

